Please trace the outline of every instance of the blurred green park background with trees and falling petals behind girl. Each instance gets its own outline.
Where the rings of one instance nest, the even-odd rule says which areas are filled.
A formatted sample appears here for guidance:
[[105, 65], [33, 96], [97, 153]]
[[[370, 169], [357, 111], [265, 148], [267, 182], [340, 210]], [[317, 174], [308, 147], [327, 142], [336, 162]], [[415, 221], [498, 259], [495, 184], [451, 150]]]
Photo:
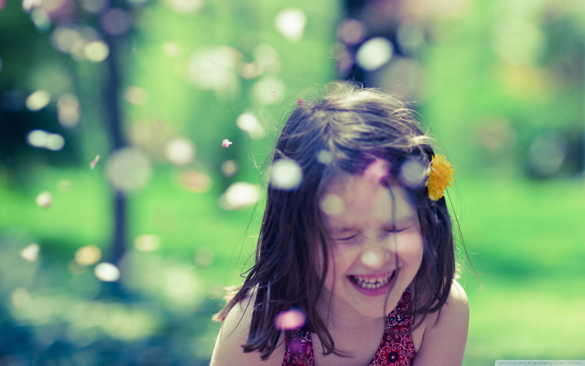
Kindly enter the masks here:
[[279, 107], [350, 79], [455, 167], [463, 364], [585, 358], [584, 25], [578, 0], [0, 0], [0, 364], [209, 364]]

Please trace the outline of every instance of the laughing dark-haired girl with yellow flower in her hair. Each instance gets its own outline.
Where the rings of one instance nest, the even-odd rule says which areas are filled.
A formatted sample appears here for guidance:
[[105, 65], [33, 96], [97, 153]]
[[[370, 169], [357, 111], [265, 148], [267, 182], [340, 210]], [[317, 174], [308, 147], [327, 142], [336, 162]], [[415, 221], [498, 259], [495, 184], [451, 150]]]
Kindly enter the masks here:
[[[372, 88], [298, 100], [255, 264], [214, 318], [212, 366], [462, 364], [469, 306], [443, 197], [453, 169], [416, 117]], [[275, 176], [295, 168], [298, 184]]]

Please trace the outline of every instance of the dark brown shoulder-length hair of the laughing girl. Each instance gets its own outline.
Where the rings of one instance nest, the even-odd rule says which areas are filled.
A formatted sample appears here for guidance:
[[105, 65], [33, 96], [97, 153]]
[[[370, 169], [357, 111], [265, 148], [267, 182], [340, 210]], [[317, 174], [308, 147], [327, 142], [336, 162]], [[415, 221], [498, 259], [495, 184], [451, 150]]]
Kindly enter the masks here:
[[[374, 159], [387, 160], [390, 176], [398, 177], [408, 159], [428, 166], [434, 154], [419, 114], [374, 88], [338, 84], [333, 91], [298, 100], [285, 120], [271, 158], [297, 163], [301, 183], [292, 190], [267, 188], [254, 265], [235, 296], [214, 316], [225, 320], [233, 306], [255, 292], [250, 331], [242, 347], [245, 352], [259, 351], [262, 360], [280, 338], [282, 330], [274, 326], [274, 319], [293, 307], [304, 310], [304, 327], [318, 334], [325, 354], [339, 354], [316, 311], [331, 242], [319, 207], [324, 187], [340, 172], [363, 173]], [[411, 314], [424, 317], [440, 311], [456, 276], [451, 218], [445, 197], [429, 200], [424, 184], [402, 186], [421, 224], [424, 253], [415, 276]], [[322, 264], [316, 263], [318, 256], [324, 258]], [[290, 343], [294, 331], [284, 330], [284, 336]]]

